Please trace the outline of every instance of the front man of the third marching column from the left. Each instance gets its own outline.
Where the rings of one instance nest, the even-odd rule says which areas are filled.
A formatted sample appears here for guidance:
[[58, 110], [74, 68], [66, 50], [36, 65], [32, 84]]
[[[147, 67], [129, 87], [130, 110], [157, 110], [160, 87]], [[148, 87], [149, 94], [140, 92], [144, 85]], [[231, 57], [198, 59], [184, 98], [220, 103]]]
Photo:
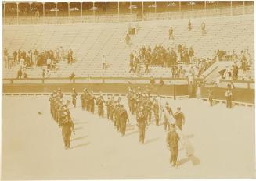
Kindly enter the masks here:
[[137, 126], [139, 127], [139, 143], [144, 144], [145, 129], [146, 129], [146, 118], [145, 118], [143, 106], [139, 107], [139, 111], [136, 115], [136, 119], [137, 119]]

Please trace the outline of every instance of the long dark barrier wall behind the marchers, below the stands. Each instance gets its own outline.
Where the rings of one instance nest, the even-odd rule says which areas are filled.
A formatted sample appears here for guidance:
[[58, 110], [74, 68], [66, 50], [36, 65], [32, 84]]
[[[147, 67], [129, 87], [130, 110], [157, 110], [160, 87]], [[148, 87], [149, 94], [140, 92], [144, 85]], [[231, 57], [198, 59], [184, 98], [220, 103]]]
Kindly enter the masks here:
[[150, 87], [151, 94], [159, 94], [164, 96], [182, 96], [188, 95], [188, 85], [154, 85], [141, 83], [31, 83], [31, 84], [4, 84], [3, 93], [28, 93], [28, 92], [52, 92], [61, 88], [63, 92], [70, 92], [74, 87], [76, 91], [81, 92], [84, 88], [88, 88], [94, 92], [102, 91], [104, 93], [127, 94], [128, 87], [141, 87], [142, 91]]

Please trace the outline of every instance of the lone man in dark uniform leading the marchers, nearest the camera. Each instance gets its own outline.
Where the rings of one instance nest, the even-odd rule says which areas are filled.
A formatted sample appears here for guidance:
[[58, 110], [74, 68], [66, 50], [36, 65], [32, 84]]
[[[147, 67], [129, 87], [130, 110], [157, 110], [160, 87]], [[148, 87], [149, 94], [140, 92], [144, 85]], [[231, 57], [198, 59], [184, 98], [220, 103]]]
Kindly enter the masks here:
[[178, 158], [178, 133], [176, 133], [175, 125], [170, 125], [170, 131], [167, 134], [166, 142], [167, 146], [171, 151], [170, 163], [171, 166], [177, 166], [177, 158]]

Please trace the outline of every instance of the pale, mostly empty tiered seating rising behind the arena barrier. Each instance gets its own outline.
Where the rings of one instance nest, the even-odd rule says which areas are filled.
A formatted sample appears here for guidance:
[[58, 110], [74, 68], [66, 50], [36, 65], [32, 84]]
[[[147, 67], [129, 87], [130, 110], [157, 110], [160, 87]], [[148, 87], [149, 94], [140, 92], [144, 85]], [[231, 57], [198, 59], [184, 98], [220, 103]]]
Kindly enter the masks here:
[[[202, 36], [200, 24], [204, 21], [207, 34]], [[75, 25], [47, 26], [5, 26], [4, 48], [13, 50], [56, 50], [63, 46], [72, 49], [76, 58], [73, 65], [59, 62], [54, 77], [67, 77], [74, 71], [76, 76], [138, 76], [128, 73], [128, 59], [131, 51], [142, 45], [163, 44], [176, 49], [178, 44], [193, 46], [195, 55], [207, 58], [216, 49], [239, 52], [248, 48], [254, 57], [254, 16], [212, 17], [191, 20], [193, 29], [187, 30], [188, 20], [162, 20], [141, 22], [138, 33], [132, 37], [132, 45], [125, 44], [128, 23], [88, 23]], [[175, 41], [168, 40], [168, 29], [172, 26]], [[103, 70], [102, 55], [106, 56], [110, 68]], [[4, 69], [4, 77], [16, 77], [19, 66]], [[27, 69], [29, 77], [41, 77], [41, 69]], [[170, 69], [150, 67], [150, 73], [142, 76], [170, 76]]]

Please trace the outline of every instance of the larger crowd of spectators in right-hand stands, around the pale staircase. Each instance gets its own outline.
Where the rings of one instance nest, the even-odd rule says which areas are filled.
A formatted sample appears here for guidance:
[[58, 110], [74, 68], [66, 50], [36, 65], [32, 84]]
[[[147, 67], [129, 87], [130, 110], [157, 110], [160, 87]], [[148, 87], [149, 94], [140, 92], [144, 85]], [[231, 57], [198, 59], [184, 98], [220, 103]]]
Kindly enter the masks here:
[[[197, 58], [192, 47], [186, 48], [184, 44], [178, 44], [177, 48], [164, 48], [156, 45], [153, 50], [150, 46], [143, 46], [139, 51], [132, 51], [130, 54], [130, 73], [149, 73], [150, 66], [161, 66], [171, 69], [173, 78], [186, 78], [193, 76], [203, 78], [203, 73], [216, 61], [233, 61], [233, 65], [227, 67], [222, 72], [223, 79], [247, 80], [251, 79], [247, 75], [252, 66], [251, 55], [248, 50], [240, 51], [220, 51], [214, 52], [211, 58]], [[145, 70], [141, 69], [144, 64]], [[189, 69], [184, 69], [183, 65], [189, 65]]]

